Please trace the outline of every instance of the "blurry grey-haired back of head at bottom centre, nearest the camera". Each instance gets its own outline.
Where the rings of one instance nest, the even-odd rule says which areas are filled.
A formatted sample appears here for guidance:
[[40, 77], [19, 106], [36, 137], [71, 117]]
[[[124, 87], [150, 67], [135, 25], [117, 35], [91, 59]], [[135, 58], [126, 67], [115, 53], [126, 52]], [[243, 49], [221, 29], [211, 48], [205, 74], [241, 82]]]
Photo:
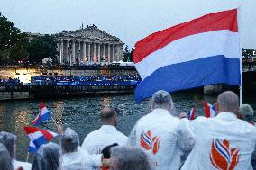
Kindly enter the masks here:
[[140, 148], [114, 147], [111, 150], [110, 170], [150, 170], [147, 155]]

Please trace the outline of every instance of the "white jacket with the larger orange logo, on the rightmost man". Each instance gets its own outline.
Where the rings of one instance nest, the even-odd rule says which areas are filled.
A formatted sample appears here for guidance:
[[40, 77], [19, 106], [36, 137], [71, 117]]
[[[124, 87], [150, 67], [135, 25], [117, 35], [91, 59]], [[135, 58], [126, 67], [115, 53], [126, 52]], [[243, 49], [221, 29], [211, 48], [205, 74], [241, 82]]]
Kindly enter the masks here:
[[195, 147], [182, 170], [249, 170], [256, 130], [231, 112], [214, 118], [198, 117], [187, 130], [195, 139]]

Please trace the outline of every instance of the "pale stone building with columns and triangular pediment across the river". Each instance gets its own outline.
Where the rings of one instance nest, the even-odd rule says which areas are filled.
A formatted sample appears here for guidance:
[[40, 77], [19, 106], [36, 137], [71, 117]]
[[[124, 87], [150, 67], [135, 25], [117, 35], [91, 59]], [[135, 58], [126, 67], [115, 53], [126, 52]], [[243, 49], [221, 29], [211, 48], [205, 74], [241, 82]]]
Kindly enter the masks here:
[[122, 40], [95, 25], [54, 34], [61, 65], [88, 65], [123, 60]]

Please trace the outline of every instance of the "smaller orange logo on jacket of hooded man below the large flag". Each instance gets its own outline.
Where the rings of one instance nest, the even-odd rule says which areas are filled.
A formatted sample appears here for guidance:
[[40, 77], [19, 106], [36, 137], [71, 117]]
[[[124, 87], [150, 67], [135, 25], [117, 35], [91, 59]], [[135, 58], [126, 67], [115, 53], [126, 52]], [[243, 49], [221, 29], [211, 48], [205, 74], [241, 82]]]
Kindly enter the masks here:
[[152, 133], [148, 130], [147, 133], [142, 131], [141, 133], [141, 147], [146, 150], [151, 150], [153, 154], [156, 154], [159, 151], [160, 146], [160, 138], [152, 137]]

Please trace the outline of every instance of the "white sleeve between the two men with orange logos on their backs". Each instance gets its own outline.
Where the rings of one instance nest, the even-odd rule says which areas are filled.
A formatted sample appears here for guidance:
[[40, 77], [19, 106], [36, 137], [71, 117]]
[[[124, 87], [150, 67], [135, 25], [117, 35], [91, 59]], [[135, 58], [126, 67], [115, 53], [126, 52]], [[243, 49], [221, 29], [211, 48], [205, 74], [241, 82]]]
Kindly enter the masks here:
[[187, 118], [183, 118], [178, 124], [178, 148], [182, 152], [191, 151], [195, 145], [195, 140], [189, 130], [190, 122]]

